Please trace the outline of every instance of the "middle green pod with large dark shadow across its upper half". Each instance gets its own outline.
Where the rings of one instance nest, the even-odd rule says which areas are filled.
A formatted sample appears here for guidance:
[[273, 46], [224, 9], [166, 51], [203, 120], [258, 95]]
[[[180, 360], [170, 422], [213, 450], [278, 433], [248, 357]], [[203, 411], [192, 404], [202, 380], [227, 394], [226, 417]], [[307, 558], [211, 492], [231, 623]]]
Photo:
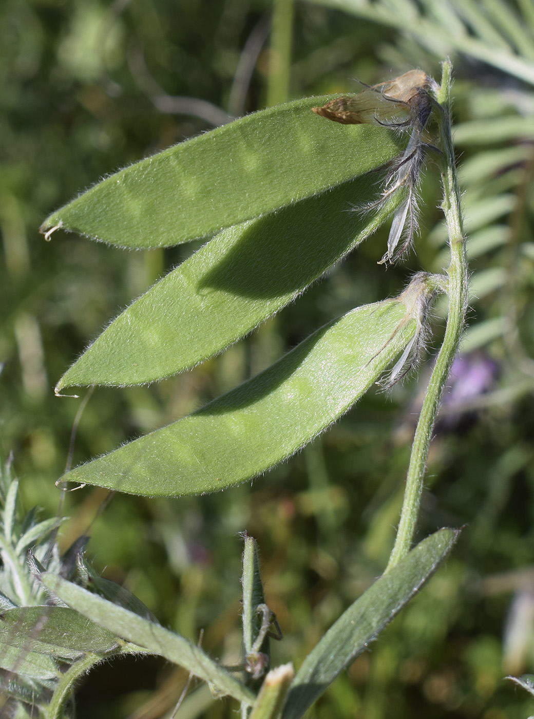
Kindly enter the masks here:
[[57, 390], [152, 382], [212, 357], [371, 234], [394, 208], [375, 216], [350, 210], [375, 196], [374, 183], [357, 178], [224, 230], [126, 308]]

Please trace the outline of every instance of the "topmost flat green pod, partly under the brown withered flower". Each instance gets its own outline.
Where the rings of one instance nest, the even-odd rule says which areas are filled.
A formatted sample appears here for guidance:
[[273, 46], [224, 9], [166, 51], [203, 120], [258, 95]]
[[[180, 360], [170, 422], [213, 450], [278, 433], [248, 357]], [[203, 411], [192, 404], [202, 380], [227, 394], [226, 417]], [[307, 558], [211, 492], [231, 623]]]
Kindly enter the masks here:
[[111, 175], [42, 224], [119, 247], [169, 247], [321, 193], [395, 157], [384, 127], [336, 127], [316, 97], [242, 117]]

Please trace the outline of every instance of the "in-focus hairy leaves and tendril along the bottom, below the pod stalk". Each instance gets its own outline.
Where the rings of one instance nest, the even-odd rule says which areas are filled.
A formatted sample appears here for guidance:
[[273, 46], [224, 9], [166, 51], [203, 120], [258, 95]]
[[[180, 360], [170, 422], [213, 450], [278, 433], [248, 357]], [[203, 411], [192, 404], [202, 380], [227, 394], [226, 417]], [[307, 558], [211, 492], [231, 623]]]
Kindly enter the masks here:
[[[80, 678], [102, 661], [129, 654], [158, 654], [180, 664], [216, 695], [241, 702], [244, 716], [250, 706], [251, 716], [274, 718], [282, 707], [284, 715], [300, 716], [431, 576], [456, 539], [454, 531], [443, 530], [418, 545], [402, 569], [347, 610], [295, 676], [291, 665], [269, 671], [269, 638], [280, 633], [264, 603], [256, 542], [244, 535], [241, 682], [236, 669], [219, 666], [160, 626], [124, 587], [99, 577], [83, 559], [84, 542], [60, 556], [57, 519], [37, 522], [34, 511], [19, 519], [18, 482], [9, 464], [0, 479], [0, 714], [17, 718], [74, 717]], [[333, 638], [336, 631], [343, 641]], [[336, 661], [326, 661], [334, 649]], [[310, 682], [310, 673], [321, 687]]]

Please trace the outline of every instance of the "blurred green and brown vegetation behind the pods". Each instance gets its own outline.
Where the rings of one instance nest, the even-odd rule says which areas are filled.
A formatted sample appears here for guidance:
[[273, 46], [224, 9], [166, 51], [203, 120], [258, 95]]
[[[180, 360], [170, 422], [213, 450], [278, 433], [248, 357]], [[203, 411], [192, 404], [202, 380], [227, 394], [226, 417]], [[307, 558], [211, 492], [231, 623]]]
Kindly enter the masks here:
[[[384, 0], [389, 20], [377, 22], [352, 4], [353, 13], [289, 0], [3, 0], [1, 451], [14, 455], [26, 508], [53, 515], [80, 402], [55, 398], [53, 385], [109, 319], [200, 246], [125, 252], [62, 232], [45, 243], [37, 227], [50, 211], [229, 116], [356, 92], [355, 78], [377, 83], [413, 67], [439, 79], [439, 60], [451, 54], [472, 236], [471, 330], [431, 450], [420, 537], [465, 528], [446, 568], [310, 716], [526, 719], [531, 702], [503, 677], [534, 672], [533, 80], [461, 52], [443, 27], [482, 37], [496, 53], [507, 44], [534, 65], [534, 8], [471, 0], [461, 15], [456, 3]], [[496, 7], [517, 17], [526, 40], [499, 22]], [[424, 37], [395, 21], [409, 21], [414, 8], [429, 18]], [[410, 271], [440, 270], [445, 235], [431, 161], [422, 194], [417, 257], [386, 272], [377, 260], [387, 234], [377, 234], [221, 357], [149, 388], [99, 388], [73, 461], [201, 406], [333, 316], [397, 294]], [[443, 316], [438, 305], [432, 345]], [[298, 664], [385, 567], [431, 354], [432, 346], [418, 377], [388, 394], [371, 391], [252, 486], [179, 500], [68, 493], [63, 546], [90, 533], [88, 556], [106, 577], [193, 641], [203, 628], [205, 649], [231, 664], [240, 644], [237, 533], [246, 529], [259, 541], [267, 601], [285, 634], [273, 661]], [[165, 716], [186, 678], [155, 659], [103, 665], [80, 687], [78, 715]], [[201, 691], [178, 716], [234, 713]]]

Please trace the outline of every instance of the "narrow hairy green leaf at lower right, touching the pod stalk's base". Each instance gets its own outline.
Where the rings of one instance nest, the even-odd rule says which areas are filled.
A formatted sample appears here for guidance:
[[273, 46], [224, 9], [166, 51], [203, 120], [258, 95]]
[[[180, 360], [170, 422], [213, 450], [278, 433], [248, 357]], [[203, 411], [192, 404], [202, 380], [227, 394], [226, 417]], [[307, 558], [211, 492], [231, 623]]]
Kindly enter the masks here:
[[424, 539], [341, 615], [297, 672], [282, 719], [301, 717], [356, 656], [367, 649], [436, 571], [458, 536], [458, 530], [441, 529]]

